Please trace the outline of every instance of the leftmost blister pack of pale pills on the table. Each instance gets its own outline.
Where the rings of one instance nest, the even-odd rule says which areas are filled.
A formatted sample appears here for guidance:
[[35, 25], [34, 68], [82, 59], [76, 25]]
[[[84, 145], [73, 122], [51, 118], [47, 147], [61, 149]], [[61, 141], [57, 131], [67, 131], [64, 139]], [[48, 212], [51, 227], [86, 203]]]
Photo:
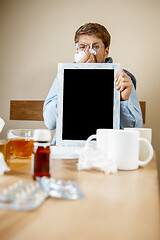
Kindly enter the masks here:
[[0, 208], [12, 210], [34, 210], [48, 197], [38, 183], [19, 181], [0, 194]]

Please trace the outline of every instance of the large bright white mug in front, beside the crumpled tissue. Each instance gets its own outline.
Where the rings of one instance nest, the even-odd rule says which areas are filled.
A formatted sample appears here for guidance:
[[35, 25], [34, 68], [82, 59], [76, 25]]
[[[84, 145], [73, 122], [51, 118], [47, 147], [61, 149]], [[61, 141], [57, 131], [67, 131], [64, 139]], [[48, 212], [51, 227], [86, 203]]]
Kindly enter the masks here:
[[[96, 135], [91, 135], [86, 141], [86, 147], [92, 139], [97, 139], [97, 148], [106, 154], [106, 158], [112, 158], [117, 163], [119, 170], [134, 170], [139, 166], [148, 164], [153, 157], [151, 143], [140, 138], [138, 131], [125, 131], [119, 129], [97, 129]], [[139, 160], [139, 145], [143, 141], [149, 154], [144, 161]]]

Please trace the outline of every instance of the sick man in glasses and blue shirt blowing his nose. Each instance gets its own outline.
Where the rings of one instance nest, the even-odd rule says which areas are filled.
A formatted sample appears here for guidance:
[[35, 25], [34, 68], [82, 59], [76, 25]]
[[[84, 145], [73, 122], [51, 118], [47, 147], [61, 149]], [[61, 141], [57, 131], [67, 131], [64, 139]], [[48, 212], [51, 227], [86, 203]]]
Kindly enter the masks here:
[[[77, 62], [112, 63], [113, 60], [109, 57], [110, 39], [107, 29], [98, 23], [87, 23], [81, 26], [74, 38], [76, 51], [80, 54]], [[136, 94], [135, 77], [127, 70], [121, 69], [117, 73], [115, 82], [117, 90], [120, 91], [120, 128], [142, 127], [142, 113]], [[51, 130], [56, 128], [57, 93], [58, 79], [56, 77], [43, 107], [45, 125]], [[55, 144], [55, 142], [56, 134], [52, 143]]]

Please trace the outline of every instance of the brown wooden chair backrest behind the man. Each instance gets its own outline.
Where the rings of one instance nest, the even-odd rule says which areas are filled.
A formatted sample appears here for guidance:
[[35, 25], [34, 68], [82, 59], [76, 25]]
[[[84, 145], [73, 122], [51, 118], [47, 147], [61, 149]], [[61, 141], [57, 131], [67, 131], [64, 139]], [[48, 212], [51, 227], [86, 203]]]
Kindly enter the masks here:
[[[43, 121], [44, 100], [11, 100], [10, 120]], [[145, 124], [146, 102], [140, 101], [143, 123]]]

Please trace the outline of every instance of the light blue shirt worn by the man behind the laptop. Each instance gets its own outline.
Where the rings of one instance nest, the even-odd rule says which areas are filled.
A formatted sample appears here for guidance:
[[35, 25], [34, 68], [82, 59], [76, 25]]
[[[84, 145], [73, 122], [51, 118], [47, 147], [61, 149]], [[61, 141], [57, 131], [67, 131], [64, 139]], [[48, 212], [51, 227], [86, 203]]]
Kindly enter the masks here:
[[[110, 61], [110, 60], [109, 60]], [[108, 62], [109, 62], [108, 61]], [[133, 86], [130, 97], [127, 101], [120, 101], [120, 128], [142, 127], [142, 113], [139, 100], [136, 94], [136, 79], [127, 70], [124, 70], [131, 77]], [[44, 123], [50, 130], [56, 129], [57, 120], [57, 101], [58, 101], [58, 78], [56, 77], [43, 106]], [[56, 142], [56, 134], [52, 143]]]

